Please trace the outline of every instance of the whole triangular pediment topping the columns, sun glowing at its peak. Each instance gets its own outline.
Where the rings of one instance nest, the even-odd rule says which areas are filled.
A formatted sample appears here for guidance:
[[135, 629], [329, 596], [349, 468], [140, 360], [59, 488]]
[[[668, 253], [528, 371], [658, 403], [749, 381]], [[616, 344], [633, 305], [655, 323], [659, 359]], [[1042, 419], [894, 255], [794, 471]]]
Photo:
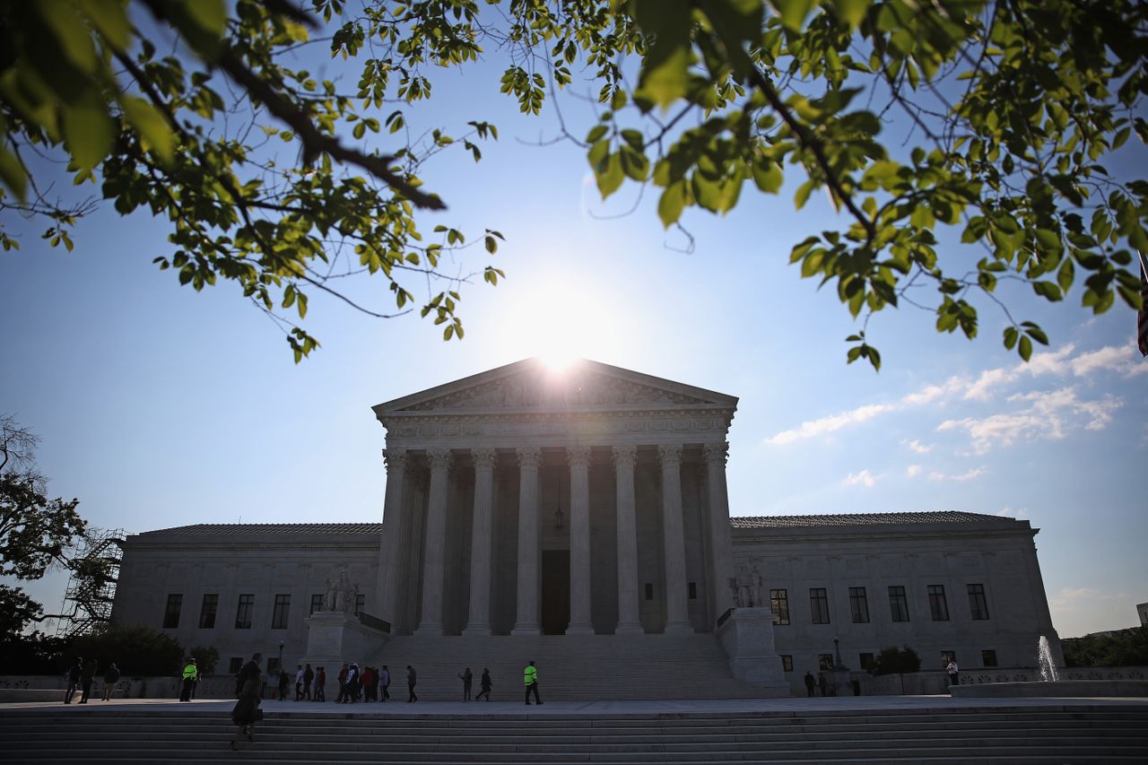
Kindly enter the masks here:
[[527, 358], [374, 407], [377, 415], [529, 409], [736, 407], [737, 399], [582, 360], [556, 371]]

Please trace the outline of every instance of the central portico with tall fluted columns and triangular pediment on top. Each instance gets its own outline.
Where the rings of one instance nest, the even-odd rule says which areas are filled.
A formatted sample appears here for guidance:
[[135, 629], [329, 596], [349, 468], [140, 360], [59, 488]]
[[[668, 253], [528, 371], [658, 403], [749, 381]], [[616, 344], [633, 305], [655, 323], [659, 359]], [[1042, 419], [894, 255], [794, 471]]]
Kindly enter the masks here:
[[374, 407], [373, 612], [397, 634], [711, 632], [731, 605], [737, 399], [527, 360]]

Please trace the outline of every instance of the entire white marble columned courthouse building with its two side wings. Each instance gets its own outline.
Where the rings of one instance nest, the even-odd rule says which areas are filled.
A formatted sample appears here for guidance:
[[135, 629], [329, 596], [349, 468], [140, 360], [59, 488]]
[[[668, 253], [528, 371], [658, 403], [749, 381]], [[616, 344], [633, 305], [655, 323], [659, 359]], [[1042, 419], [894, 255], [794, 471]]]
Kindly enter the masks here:
[[381, 524], [132, 535], [113, 618], [215, 646], [228, 666], [278, 644], [289, 666], [561, 641], [634, 666], [712, 648], [727, 677], [773, 694], [893, 644], [924, 669], [955, 655], [967, 671], [1031, 666], [1040, 635], [1058, 651], [1027, 521], [731, 517], [736, 408], [683, 382], [536, 360], [378, 404]]

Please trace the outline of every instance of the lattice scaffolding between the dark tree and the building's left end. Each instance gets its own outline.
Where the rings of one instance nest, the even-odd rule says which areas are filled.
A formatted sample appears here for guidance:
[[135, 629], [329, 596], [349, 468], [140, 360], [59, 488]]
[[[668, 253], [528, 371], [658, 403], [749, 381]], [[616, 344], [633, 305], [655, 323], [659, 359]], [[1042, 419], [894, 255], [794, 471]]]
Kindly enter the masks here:
[[110, 623], [125, 536], [123, 528], [90, 527], [84, 534], [71, 556], [57, 638], [86, 635]]

